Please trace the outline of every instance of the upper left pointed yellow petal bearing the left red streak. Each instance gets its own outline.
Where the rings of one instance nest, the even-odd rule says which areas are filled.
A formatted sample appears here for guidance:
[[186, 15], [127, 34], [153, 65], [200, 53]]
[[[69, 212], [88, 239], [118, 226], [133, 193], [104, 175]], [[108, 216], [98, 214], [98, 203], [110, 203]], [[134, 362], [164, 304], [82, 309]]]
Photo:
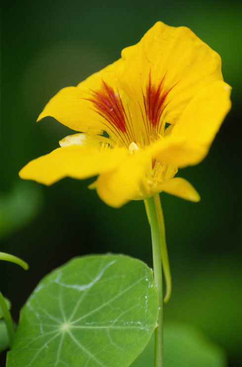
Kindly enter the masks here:
[[[37, 121], [46, 116], [52, 116], [76, 131], [102, 134], [105, 130], [118, 141], [122, 131], [119, 130], [119, 127], [117, 128], [115, 124], [117, 121], [112, 124], [112, 119], [118, 120], [118, 123], [121, 121], [119, 118], [122, 108], [122, 105], [120, 106], [121, 97], [122, 103], [125, 100], [125, 92], [119, 88], [116, 75], [117, 67], [121, 62], [120, 59], [94, 73], [78, 87], [67, 87], [60, 90], [46, 104]], [[113, 95], [109, 95], [110, 92]], [[125, 113], [123, 116], [126, 118]]]

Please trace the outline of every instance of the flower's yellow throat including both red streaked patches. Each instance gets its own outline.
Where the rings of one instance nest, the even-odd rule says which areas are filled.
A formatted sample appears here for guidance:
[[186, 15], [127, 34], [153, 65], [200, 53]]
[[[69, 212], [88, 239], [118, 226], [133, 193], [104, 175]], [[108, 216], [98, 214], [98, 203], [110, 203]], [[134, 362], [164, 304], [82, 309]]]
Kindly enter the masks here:
[[[133, 101], [123, 91], [102, 81], [98, 91], [90, 90], [85, 98], [92, 102], [94, 110], [102, 119], [104, 130], [118, 143], [126, 146], [131, 153], [138, 150], [137, 141], [142, 148], [150, 145], [164, 135], [167, 98], [171, 88], [165, 85], [165, 76], [159, 83], [152, 80], [151, 70], [146, 88], [141, 90], [143, 98]], [[136, 147], [134, 148], [134, 145]]]

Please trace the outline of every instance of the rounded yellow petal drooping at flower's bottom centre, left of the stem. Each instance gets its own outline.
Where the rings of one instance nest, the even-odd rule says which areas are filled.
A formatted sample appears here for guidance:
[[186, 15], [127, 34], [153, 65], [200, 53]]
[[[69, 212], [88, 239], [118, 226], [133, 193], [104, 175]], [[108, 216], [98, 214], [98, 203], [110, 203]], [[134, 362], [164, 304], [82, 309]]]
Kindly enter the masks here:
[[140, 194], [140, 184], [147, 170], [149, 157], [143, 153], [130, 154], [113, 171], [97, 179], [97, 193], [108, 205], [119, 208]]

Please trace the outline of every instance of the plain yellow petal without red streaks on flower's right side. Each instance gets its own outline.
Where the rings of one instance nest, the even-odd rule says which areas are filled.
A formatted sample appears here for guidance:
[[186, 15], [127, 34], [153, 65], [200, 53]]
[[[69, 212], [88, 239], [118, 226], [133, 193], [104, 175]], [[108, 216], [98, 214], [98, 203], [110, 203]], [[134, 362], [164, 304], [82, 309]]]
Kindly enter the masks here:
[[188, 104], [171, 135], [153, 145], [157, 160], [178, 167], [201, 162], [231, 108], [230, 91], [222, 81], [202, 89]]

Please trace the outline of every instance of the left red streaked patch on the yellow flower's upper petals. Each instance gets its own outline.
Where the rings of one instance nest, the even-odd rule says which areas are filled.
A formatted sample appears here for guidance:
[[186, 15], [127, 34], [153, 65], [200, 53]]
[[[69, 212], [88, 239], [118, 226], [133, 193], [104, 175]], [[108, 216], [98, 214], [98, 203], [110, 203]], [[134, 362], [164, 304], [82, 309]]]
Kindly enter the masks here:
[[119, 92], [108, 86], [104, 81], [100, 91], [92, 91], [92, 97], [86, 98], [94, 104], [95, 110], [106, 119], [115, 130], [126, 132], [126, 114]]

